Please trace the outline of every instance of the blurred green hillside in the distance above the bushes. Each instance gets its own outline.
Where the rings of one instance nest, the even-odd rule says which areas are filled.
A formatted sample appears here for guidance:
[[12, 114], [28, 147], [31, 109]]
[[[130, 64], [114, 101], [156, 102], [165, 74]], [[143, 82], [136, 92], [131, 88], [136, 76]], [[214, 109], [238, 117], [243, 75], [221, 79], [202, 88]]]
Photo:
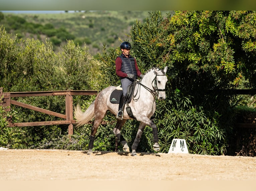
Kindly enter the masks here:
[[[80, 46], [86, 45], [91, 55], [107, 48], [117, 48], [121, 41], [128, 40], [129, 31], [135, 21], [145, 22], [150, 11], [78, 11], [59, 14], [11, 14], [4, 13], [0, 19], [8, 33], [18, 38], [34, 38], [42, 42], [48, 39], [55, 52], [59, 46], [73, 40]], [[164, 11], [168, 13], [169, 11]], [[174, 13], [170, 11], [170, 13]]]

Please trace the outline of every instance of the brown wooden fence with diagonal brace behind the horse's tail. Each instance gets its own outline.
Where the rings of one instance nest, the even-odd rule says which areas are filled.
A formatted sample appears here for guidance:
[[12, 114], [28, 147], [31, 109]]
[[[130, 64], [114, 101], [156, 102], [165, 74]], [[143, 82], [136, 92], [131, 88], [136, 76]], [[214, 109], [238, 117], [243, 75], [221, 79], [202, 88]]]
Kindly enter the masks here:
[[[78, 91], [78, 90], [66, 90], [66, 91], [44, 91], [44, 92], [6, 92], [3, 93], [3, 88], [0, 88], [0, 97], [3, 96], [3, 107], [6, 111], [11, 110], [11, 104], [18, 105], [24, 108], [32, 109], [39, 111], [45, 114], [53, 115], [64, 120], [55, 120], [55, 121], [38, 121], [38, 122], [19, 122], [13, 123], [9, 121], [9, 126], [39, 126], [39, 125], [59, 125], [59, 124], [68, 124], [68, 134], [73, 134], [73, 124], [76, 120], [73, 119], [73, 95], [97, 95], [98, 91]], [[65, 96], [66, 101], [66, 113], [57, 113], [47, 109], [39, 108], [33, 105], [22, 103], [19, 101], [12, 100], [12, 97], [31, 97], [31, 96]]]

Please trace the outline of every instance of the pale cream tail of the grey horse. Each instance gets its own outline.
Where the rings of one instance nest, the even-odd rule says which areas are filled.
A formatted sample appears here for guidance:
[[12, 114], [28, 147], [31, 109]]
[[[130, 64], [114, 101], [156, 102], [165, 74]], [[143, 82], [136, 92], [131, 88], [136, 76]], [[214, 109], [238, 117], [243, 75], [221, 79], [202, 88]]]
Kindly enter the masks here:
[[77, 126], [81, 126], [83, 124], [88, 123], [91, 119], [94, 118], [94, 102], [95, 100], [92, 102], [92, 104], [88, 107], [88, 109], [83, 112], [81, 110], [80, 105], [78, 104], [77, 107], [75, 107], [75, 118], [77, 119]]

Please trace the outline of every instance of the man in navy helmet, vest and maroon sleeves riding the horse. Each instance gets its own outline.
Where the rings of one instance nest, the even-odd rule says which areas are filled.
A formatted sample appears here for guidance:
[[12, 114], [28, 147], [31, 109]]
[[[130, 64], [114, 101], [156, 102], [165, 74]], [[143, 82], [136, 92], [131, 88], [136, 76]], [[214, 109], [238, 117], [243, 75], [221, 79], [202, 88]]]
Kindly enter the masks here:
[[116, 74], [121, 79], [123, 95], [120, 97], [117, 118], [123, 119], [123, 107], [127, 96], [127, 87], [133, 83], [134, 79], [143, 77], [136, 59], [130, 55], [132, 46], [129, 42], [123, 42], [120, 45], [122, 54], [116, 58]]

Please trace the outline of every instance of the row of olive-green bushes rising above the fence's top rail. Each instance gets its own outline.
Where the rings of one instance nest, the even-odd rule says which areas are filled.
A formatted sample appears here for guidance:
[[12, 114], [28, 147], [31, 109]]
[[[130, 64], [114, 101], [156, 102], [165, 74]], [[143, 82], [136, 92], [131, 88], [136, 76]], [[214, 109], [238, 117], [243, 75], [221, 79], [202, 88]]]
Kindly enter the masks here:
[[0, 86], [4, 91], [86, 90], [99, 74], [98, 62], [88, 49], [72, 41], [55, 54], [49, 41], [17, 40], [4, 29], [0, 35]]

